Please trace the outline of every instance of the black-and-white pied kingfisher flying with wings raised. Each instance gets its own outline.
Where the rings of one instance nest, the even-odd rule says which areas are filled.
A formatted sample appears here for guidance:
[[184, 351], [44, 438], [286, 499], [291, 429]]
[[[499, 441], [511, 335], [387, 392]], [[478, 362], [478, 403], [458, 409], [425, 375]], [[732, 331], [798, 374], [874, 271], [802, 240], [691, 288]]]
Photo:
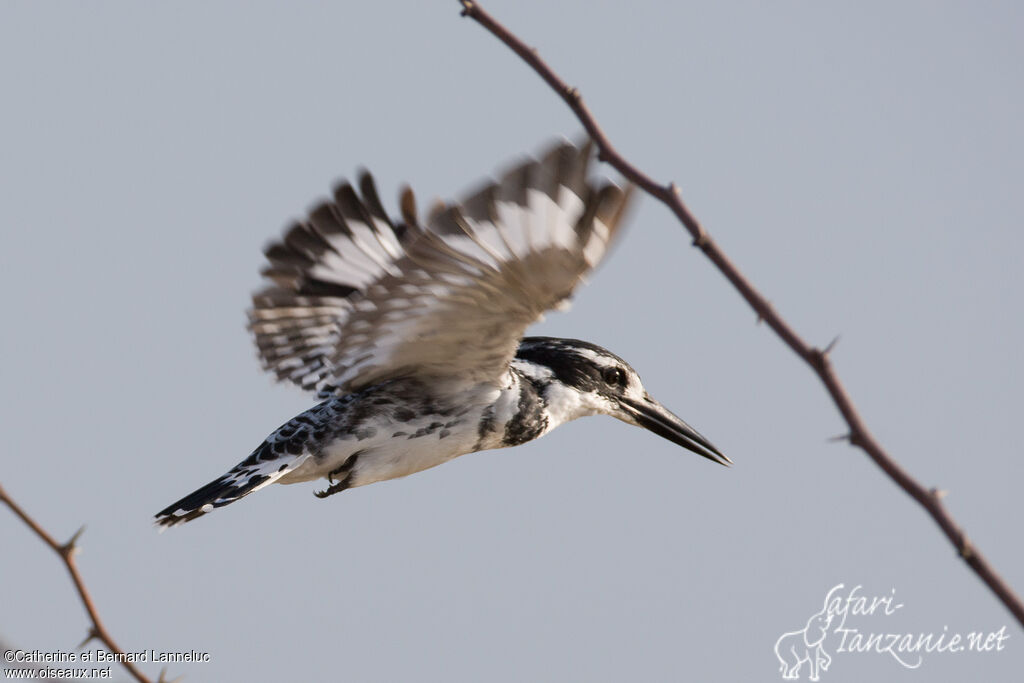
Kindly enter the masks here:
[[325, 477], [319, 498], [610, 415], [723, 465], [625, 360], [588, 342], [526, 337], [604, 256], [632, 187], [589, 177], [562, 142], [422, 222], [412, 190], [388, 218], [373, 178], [266, 249], [250, 329], [263, 367], [319, 403], [220, 478], [169, 505], [173, 526], [271, 483]]

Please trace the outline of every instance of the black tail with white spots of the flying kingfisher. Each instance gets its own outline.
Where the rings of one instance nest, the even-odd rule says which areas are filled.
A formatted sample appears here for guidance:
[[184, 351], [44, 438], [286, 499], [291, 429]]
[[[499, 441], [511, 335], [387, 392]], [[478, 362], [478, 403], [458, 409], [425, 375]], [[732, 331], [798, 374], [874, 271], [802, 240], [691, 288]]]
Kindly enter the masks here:
[[254, 490], [268, 486], [301, 465], [308, 455], [278, 455], [264, 441], [251, 456], [223, 476], [172, 503], [155, 517], [161, 530], [202, 517], [215, 508], [222, 508]]

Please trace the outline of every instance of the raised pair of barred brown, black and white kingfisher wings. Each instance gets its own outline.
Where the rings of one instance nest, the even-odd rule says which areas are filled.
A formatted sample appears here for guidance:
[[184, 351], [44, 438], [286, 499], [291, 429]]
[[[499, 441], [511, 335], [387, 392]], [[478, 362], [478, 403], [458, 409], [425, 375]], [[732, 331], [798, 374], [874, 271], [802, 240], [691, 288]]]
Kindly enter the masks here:
[[319, 392], [399, 376], [498, 382], [526, 327], [601, 260], [629, 191], [588, 178], [567, 142], [421, 225], [412, 193], [392, 221], [373, 178], [286, 230], [250, 328], [265, 369]]

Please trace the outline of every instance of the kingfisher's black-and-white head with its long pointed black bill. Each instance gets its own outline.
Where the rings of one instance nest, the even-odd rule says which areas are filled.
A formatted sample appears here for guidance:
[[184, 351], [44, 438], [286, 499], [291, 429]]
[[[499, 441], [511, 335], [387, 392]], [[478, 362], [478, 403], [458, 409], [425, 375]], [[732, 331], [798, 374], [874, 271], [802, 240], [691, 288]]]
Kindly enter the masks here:
[[607, 349], [577, 339], [526, 337], [516, 359], [523, 372], [548, 383], [548, 410], [562, 422], [585, 415], [610, 415], [720, 465], [732, 462], [651, 397], [630, 364]]

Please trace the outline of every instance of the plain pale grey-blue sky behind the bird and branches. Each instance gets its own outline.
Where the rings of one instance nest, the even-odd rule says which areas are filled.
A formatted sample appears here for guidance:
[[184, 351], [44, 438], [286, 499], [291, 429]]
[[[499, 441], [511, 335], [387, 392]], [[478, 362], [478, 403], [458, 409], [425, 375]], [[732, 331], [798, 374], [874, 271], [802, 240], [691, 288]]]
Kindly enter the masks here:
[[[675, 180], [835, 361], [874, 433], [1024, 590], [1024, 88], [1018, 3], [486, 7]], [[189, 681], [772, 681], [833, 586], [865, 630], [997, 630], [915, 672], [1010, 681], [1024, 633], [859, 452], [822, 388], [651, 201], [535, 332], [632, 362], [729, 470], [610, 419], [319, 501], [275, 486], [152, 515], [311, 398], [244, 329], [260, 248], [367, 166], [453, 197], [558, 135], [564, 104], [452, 2], [0, 7], [0, 481], [60, 538], [129, 650]], [[70, 649], [63, 569], [0, 510], [0, 636]], [[158, 669], [146, 669], [154, 677]], [[806, 674], [805, 674], [806, 675]], [[806, 678], [802, 679], [806, 680]]]

